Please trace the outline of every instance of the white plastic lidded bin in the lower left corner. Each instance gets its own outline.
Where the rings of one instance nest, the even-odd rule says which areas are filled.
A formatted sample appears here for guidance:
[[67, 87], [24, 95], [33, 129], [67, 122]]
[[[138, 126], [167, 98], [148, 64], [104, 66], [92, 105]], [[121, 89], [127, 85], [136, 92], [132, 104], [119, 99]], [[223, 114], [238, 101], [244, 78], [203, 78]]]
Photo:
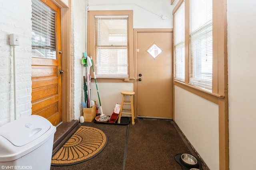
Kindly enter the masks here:
[[2, 169], [50, 170], [56, 127], [38, 115], [21, 117], [0, 127]]

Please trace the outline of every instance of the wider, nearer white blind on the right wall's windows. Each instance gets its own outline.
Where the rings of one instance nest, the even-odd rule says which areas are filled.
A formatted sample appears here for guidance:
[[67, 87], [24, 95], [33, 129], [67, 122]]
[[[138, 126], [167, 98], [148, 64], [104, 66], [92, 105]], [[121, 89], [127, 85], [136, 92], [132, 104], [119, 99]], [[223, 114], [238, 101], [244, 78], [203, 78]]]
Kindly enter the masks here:
[[189, 84], [212, 90], [212, 0], [190, 0]]

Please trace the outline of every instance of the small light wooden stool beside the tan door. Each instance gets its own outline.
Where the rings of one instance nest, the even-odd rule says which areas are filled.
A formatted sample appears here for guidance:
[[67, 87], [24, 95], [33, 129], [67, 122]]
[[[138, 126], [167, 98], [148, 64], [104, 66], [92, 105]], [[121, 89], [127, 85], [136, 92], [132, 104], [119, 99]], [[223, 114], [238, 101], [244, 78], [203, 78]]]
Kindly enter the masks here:
[[[121, 94], [123, 95], [123, 99], [122, 99], [121, 109], [120, 109], [120, 113], [119, 113], [119, 117], [118, 117], [118, 122], [117, 123], [120, 123], [122, 113], [124, 113], [124, 114], [131, 114], [132, 115], [132, 125], [134, 125], [135, 122], [134, 122], [134, 109], [133, 109], [132, 96], [135, 94], [135, 92], [132, 92], [132, 91], [122, 91]], [[130, 96], [130, 101], [125, 101], [124, 100], [126, 95]], [[130, 105], [131, 109], [124, 109], [123, 108], [124, 105]], [[130, 110], [131, 113], [122, 112], [123, 110]]]

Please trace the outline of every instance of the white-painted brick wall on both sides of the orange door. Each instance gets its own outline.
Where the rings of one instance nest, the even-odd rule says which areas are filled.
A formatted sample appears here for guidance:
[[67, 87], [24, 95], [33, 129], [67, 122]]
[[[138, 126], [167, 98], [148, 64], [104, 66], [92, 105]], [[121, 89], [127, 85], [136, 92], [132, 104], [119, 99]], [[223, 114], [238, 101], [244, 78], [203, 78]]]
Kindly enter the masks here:
[[[85, 16], [88, 0], [72, 1], [72, 119], [82, 115], [82, 66], [86, 51]], [[16, 47], [17, 118], [31, 115], [31, 5], [30, 0], [0, 1], [0, 126], [14, 120], [13, 49], [9, 34], [20, 35]]]

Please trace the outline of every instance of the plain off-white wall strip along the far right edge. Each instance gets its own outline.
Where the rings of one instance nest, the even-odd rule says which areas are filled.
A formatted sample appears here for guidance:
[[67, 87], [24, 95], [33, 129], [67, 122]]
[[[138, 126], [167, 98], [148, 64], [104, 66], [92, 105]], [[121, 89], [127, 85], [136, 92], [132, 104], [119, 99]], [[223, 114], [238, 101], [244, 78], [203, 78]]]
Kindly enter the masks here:
[[256, 167], [256, 1], [227, 0], [230, 170]]

